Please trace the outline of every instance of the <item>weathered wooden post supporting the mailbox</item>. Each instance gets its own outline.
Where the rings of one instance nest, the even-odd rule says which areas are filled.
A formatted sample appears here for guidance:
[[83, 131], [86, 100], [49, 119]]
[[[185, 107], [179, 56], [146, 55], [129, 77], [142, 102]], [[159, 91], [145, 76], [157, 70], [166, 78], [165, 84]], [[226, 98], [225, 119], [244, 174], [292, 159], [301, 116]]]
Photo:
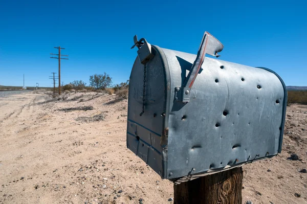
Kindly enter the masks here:
[[174, 204], [242, 203], [242, 167], [174, 185]]

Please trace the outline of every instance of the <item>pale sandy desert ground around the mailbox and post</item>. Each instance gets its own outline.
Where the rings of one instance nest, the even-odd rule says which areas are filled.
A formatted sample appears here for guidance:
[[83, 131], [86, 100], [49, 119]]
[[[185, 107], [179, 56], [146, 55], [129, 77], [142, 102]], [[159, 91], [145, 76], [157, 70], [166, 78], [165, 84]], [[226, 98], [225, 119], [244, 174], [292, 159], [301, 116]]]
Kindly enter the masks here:
[[[172, 203], [172, 183], [126, 148], [126, 111], [101, 93], [0, 98], [0, 203]], [[307, 203], [307, 106], [286, 119], [282, 153], [243, 167], [244, 203]]]

